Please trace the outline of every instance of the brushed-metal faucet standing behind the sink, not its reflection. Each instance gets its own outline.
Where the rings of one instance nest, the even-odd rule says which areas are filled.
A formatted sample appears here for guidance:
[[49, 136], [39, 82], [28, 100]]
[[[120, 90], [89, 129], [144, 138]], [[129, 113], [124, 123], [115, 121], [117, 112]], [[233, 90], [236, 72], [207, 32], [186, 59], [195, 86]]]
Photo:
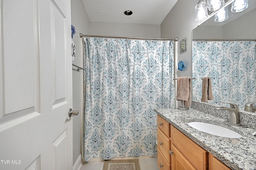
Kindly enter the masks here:
[[229, 122], [235, 125], [239, 125], [239, 108], [237, 104], [230, 104], [230, 107], [216, 107], [217, 110], [228, 110], [229, 112]]

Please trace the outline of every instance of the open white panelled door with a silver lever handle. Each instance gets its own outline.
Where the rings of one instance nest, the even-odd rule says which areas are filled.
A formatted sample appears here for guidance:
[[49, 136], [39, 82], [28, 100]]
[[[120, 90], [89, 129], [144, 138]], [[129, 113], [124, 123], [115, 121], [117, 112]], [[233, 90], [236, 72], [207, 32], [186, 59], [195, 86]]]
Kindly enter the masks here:
[[71, 170], [70, 0], [0, 0], [0, 18], [0, 170]]

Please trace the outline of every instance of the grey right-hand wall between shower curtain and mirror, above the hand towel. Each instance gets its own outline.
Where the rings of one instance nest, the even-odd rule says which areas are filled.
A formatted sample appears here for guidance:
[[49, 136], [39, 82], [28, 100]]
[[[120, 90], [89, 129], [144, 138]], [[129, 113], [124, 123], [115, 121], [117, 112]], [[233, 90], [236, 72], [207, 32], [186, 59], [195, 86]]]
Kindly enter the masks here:
[[161, 23], [161, 38], [178, 37], [178, 42], [187, 38], [187, 51], [182, 54], [178, 51], [178, 62], [182, 60], [186, 66], [185, 70], [178, 70], [178, 77], [192, 76], [192, 30], [202, 23], [195, 21], [194, 9], [197, 2], [198, 0], [178, 0]]

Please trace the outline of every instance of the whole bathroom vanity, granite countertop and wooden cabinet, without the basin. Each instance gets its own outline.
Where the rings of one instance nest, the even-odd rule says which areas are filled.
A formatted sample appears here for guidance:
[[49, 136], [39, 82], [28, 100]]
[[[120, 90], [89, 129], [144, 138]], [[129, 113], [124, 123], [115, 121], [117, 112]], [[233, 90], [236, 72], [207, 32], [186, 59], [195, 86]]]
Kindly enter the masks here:
[[[158, 167], [160, 170], [255, 170], [256, 130], [230, 125], [224, 119], [195, 109], [155, 109], [158, 114]], [[220, 125], [240, 138], [204, 133], [188, 125], [198, 121]]]

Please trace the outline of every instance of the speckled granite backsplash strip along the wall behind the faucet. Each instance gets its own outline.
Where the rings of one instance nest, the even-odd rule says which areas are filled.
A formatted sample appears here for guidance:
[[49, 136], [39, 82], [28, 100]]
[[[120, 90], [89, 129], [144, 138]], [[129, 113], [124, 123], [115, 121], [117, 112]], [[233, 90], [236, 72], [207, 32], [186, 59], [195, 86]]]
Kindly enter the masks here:
[[[206, 114], [229, 120], [229, 112], [226, 110], [217, 110], [217, 105], [208, 104], [205, 102], [196, 102], [192, 100], [191, 108], [202, 111]], [[256, 113], [239, 110], [240, 124], [256, 129]]]

